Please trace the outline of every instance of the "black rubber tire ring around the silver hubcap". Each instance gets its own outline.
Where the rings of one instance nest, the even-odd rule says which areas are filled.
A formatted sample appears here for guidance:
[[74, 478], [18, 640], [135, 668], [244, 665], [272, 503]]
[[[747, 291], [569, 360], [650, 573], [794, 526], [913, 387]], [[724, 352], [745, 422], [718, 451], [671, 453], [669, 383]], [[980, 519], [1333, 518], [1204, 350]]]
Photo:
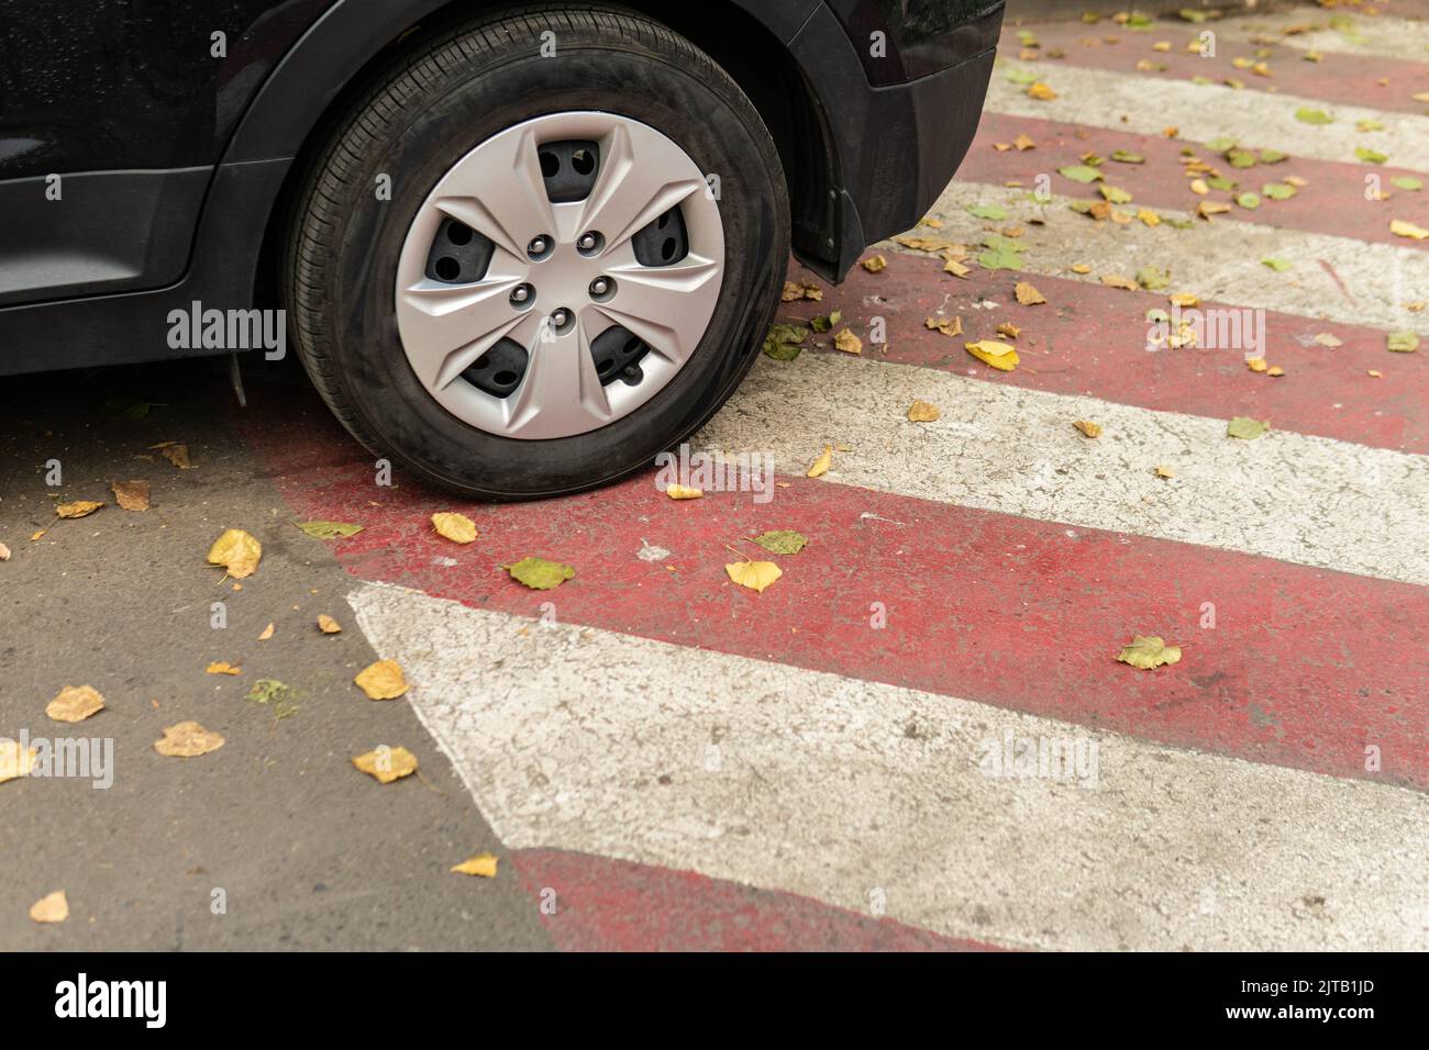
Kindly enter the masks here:
[[[547, 30], [556, 57], [539, 53]], [[576, 437], [490, 434], [447, 413], [413, 373], [397, 334], [397, 257], [422, 201], [460, 157], [523, 120], [577, 109], [650, 124], [720, 176], [723, 287], [686, 366], [643, 407]], [[383, 173], [390, 201], [374, 199]], [[522, 9], [420, 46], [339, 123], [297, 203], [284, 304], [309, 376], [372, 453], [463, 496], [532, 499], [637, 471], [703, 424], [759, 353], [787, 254], [779, 153], [709, 56], [637, 14]]]

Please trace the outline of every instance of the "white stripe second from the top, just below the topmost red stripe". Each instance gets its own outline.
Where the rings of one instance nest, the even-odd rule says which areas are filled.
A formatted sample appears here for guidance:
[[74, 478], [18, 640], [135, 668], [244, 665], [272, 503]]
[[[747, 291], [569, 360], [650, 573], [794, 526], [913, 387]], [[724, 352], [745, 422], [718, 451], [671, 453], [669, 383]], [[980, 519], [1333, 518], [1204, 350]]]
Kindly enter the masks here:
[[[1052, 101], [1030, 99], [1026, 84], [1007, 80], [1007, 71], [1019, 67], [1043, 77], [1057, 97]], [[986, 107], [1015, 117], [1065, 120], [1136, 134], [1160, 134], [1162, 129], [1173, 124], [1189, 141], [1205, 143], [1229, 136], [1245, 146], [1273, 147], [1292, 157], [1352, 164], [1358, 163], [1355, 147], [1370, 146], [1389, 154], [1395, 167], [1429, 171], [1429, 117], [1339, 106], [1292, 94], [1235, 91], [1220, 84], [1159, 80], [1056, 61], [1009, 61], [993, 71]], [[1300, 107], [1325, 110], [1335, 117], [1335, 123], [1303, 124], [1295, 119]], [[1383, 130], [1355, 130], [1356, 121], [1369, 119], [1380, 121]], [[1060, 163], [1075, 161], [1067, 157]], [[1376, 170], [1369, 164], [1363, 167], [1366, 173]]]

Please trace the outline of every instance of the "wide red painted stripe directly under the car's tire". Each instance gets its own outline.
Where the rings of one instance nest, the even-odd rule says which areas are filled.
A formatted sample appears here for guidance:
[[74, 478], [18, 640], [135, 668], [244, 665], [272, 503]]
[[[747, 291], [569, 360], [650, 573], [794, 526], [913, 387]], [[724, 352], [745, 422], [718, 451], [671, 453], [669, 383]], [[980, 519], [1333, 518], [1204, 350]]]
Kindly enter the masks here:
[[[564, 623], [1429, 787], [1425, 587], [802, 477], [766, 506], [747, 494], [673, 501], [653, 476], [463, 506], [482, 537], [459, 547], [429, 524], [452, 501], [410, 481], [376, 489], [370, 459], [316, 399], [252, 400], [243, 426], [294, 516], [366, 526], [334, 544], [366, 580], [523, 616], [553, 601]], [[726, 544], [769, 529], [812, 544], [777, 559], [785, 577], [756, 596], [729, 583]], [[674, 553], [643, 561], [642, 540]], [[530, 591], [502, 570], [532, 554], [567, 561], [574, 580]], [[886, 629], [870, 627], [873, 603]], [[1215, 629], [1200, 627], [1203, 603]], [[1186, 657], [1156, 671], [1116, 663], [1133, 633], [1186, 643]], [[1380, 749], [1382, 773], [1366, 773], [1366, 746]]]

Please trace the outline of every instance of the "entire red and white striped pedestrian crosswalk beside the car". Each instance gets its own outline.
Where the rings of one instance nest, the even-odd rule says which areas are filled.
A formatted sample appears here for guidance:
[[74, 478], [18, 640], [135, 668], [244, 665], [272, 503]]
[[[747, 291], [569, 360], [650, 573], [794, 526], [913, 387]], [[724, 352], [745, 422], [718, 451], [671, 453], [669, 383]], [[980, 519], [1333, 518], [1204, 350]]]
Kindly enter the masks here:
[[[1429, 107], [1345, 87], [1383, 61], [1396, 91], [1429, 90], [1429, 33], [1355, 16], [1252, 40], [1329, 17], [1212, 23], [1208, 77], [1249, 80], [1233, 60], [1270, 46], [1272, 67], [1296, 63], [1285, 91], [1107, 57], [1183, 51], [1200, 26], [1096, 47], [1076, 39], [1112, 30], [1047, 27], [1035, 59], [1009, 27], [962, 177], [919, 230], [967, 247], [967, 277], [879, 246], [886, 269], [785, 307], [839, 310], [862, 354], [812, 336], [762, 359], [692, 439], [772, 457], [767, 503], [676, 503], [652, 471], [460, 507], [480, 540], [454, 547], [426, 527], [444, 497], [373, 499], [370, 466], [312, 421], [250, 424], [294, 514], [366, 526], [334, 547], [357, 624], [533, 900], [562, 901], [543, 909], [559, 944], [1429, 949], [1429, 381], [1425, 349], [1388, 347], [1429, 340], [1429, 254], [1388, 231], [1429, 194], [1363, 193], [1376, 171], [1429, 179]], [[995, 149], [1019, 133], [1036, 146]], [[1195, 219], [1180, 151], [1220, 163], [1218, 139], [1289, 154], [1222, 167], [1302, 194]], [[1359, 163], [1365, 144], [1389, 167]], [[1115, 149], [1143, 154], [1102, 167], [1120, 207], [1159, 224], [1069, 207], [1100, 194], [1057, 169]], [[976, 263], [987, 239], [1017, 243], [1015, 269]], [[1166, 281], [1102, 281], [1146, 267]], [[1265, 311], [1285, 374], [1243, 347], [1149, 351], [1147, 310], [1176, 293]], [[1017, 369], [969, 356], [980, 339], [1015, 340]], [[910, 423], [913, 400], [940, 417]], [[1236, 416], [1270, 430], [1229, 437]], [[773, 529], [809, 546], [746, 541]], [[502, 566], [530, 554], [574, 579], [519, 587]], [[733, 586], [745, 556], [783, 576]], [[1135, 634], [1180, 660], [1119, 663]]]

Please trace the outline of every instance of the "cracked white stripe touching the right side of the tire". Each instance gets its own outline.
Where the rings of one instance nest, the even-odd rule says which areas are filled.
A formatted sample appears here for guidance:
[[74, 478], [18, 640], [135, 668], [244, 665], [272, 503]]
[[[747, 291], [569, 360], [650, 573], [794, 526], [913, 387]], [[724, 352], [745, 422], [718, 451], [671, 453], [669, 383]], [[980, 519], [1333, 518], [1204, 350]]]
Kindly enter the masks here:
[[[979, 313], [963, 311], [967, 339], [995, 339]], [[962, 339], [950, 346], [960, 351]], [[942, 419], [909, 423], [915, 399]], [[1072, 427], [1083, 419], [1105, 427], [1100, 439]], [[1226, 437], [1226, 420], [817, 353], [762, 357], [692, 440], [762, 451], [783, 473], [836, 443], [853, 451], [835, 453], [830, 481], [1429, 583], [1425, 456], [1288, 431], [1245, 441]], [[1156, 477], [1157, 466], [1176, 477]]]

